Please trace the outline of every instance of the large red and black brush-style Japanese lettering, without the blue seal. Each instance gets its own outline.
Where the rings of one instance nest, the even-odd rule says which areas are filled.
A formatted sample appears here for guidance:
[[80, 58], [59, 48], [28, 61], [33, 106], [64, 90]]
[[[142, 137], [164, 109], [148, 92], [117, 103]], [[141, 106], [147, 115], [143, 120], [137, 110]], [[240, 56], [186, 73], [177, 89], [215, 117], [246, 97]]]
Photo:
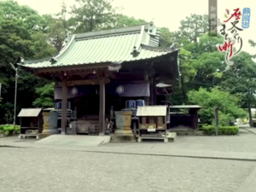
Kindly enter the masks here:
[[[233, 9], [233, 11], [226, 9], [225, 12], [226, 14], [224, 16], [226, 20], [221, 24], [221, 30], [219, 31], [224, 36], [224, 44], [219, 45], [218, 50], [226, 53], [225, 61], [229, 64], [230, 58], [241, 51], [242, 39], [240, 33], [243, 29], [238, 27], [241, 20], [241, 11], [239, 8]], [[230, 12], [232, 13], [231, 15]], [[228, 27], [229, 24], [231, 27]], [[235, 44], [238, 44], [237, 50], [234, 49]]]

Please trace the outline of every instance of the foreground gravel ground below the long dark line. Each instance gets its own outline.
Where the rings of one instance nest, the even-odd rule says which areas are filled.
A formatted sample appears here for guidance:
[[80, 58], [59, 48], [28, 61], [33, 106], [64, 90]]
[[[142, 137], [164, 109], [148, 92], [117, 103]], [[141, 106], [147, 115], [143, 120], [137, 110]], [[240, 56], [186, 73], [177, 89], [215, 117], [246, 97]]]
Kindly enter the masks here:
[[235, 192], [255, 166], [235, 160], [0, 148], [0, 191]]

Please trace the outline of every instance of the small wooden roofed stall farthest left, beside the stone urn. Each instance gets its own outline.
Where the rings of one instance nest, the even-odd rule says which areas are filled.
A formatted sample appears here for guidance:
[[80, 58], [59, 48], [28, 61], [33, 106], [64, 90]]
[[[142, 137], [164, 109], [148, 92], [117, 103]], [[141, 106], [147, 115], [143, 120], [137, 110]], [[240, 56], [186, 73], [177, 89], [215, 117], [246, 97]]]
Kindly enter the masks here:
[[20, 136], [37, 137], [43, 131], [43, 113], [42, 108], [22, 108], [18, 114], [20, 118]]

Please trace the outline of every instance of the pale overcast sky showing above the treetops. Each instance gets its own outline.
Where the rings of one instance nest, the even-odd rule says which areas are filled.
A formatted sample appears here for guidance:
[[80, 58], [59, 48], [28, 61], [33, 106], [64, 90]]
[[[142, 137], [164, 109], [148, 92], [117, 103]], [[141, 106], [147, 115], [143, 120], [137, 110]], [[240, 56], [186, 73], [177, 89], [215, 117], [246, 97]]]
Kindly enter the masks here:
[[[30, 6], [36, 9], [39, 14], [54, 14], [61, 9], [62, 0], [16, 0], [18, 3]], [[74, 0], [64, 0], [67, 6], [73, 5]], [[133, 16], [137, 19], [154, 21], [154, 25], [158, 27], [166, 26], [170, 31], [176, 31], [180, 26], [180, 20], [191, 14], [208, 14], [208, 0], [113, 0], [113, 7], [122, 6], [124, 15]], [[248, 44], [248, 39], [256, 40], [256, 14], [254, 15], [252, 0], [218, 0], [218, 18], [225, 20], [225, 9], [251, 9], [251, 26], [240, 32], [243, 46], [241, 50], [247, 51], [250, 54], [255, 54], [256, 48], [253, 49]], [[242, 12], [242, 11], [241, 11]], [[256, 12], [255, 12], [256, 13]], [[230, 28], [230, 27], [229, 27]], [[218, 29], [220, 30], [220, 29]], [[254, 32], [254, 34], [253, 34]]]

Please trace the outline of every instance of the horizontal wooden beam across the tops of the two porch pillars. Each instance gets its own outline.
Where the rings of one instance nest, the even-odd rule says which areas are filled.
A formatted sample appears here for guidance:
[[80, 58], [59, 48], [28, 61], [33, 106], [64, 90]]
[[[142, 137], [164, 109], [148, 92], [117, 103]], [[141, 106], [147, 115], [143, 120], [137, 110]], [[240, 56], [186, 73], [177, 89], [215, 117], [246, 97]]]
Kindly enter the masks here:
[[71, 80], [66, 82], [59, 82], [59, 86], [63, 86], [66, 84], [67, 87], [77, 86], [77, 85], [84, 85], [84, 84], [101, 84], [103, 81], [104, 84], [108, 84], [110, 82], [109, 79], [85, 79], [85, 80]]

